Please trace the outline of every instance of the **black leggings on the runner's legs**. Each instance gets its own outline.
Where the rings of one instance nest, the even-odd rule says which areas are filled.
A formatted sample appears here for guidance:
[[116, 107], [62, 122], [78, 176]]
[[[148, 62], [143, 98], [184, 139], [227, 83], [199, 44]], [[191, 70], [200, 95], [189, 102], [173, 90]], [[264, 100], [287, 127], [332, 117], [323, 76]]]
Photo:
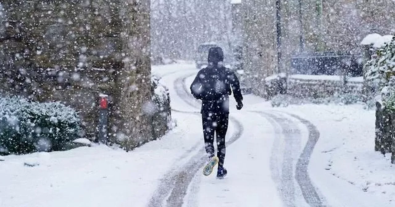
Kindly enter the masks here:
[[225, 160], [225, 136], [228, 131], [228, 113], [202, 113], [203, 135], [205, 149], [209, 157], [214, 156], [214, 132], [216, 132], [218, 166], [224, 165]]

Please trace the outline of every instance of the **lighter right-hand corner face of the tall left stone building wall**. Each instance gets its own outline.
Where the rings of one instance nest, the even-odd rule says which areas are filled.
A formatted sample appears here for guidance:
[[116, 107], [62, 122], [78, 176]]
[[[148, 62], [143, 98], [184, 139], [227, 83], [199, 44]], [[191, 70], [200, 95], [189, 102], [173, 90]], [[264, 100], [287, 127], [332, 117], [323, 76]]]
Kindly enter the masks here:
[[119, 5], [122, 22], [122, 65], [117, 72], [113, 133], [126, 150], [152, 139], [150, 65], [150, 1], [123, 0]]

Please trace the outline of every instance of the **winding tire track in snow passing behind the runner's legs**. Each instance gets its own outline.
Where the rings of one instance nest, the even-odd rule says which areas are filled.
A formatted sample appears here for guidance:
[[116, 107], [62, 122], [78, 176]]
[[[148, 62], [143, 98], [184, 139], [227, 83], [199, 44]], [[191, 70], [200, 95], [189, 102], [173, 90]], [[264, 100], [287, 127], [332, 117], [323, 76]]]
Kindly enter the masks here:
[[[181, 76], [177, 78], [174, 82], [174, 87], [177, 95], [188, 105], [199, 108], [200, 103], [193, 98], [192, 95], [188, 93], [185, 85], [185, 80], [192, 74]], [[200, 114], [200, 112], [186, 112], [180, 110], [173, 110], [175, 112], [190, 113], [190, 114]], [[235, 142], [241, 137], [243, 133], [243, 125], [237, 121], [234, 117], [229, 116], [229, 120], [235, 124], [235, 133], [226, 142], [226, 146]], [[199, 145], [199, 144], [198, 144]], [[189, 152], [194, 151], [198, 146], [192, 147]], [[186, 196], [188, 186], [192, 182], [193, 177], [196, 175], [198, 170], [205, 164], [207, 157], [205, 156], [205, 149], [201, 147], [198, 153], [194, 155], [190, 160], [184, 164], [179, 171], [171, 171], [167, 173], [158, 186], [158, 189], [152, 196], [149, 207], [159, 207], [159, 206], [169, 206], [169, 207], [181, 207], [184, 202], [184, 197]], [[167, 199], [166, 199], [167, 198]], [[166, 204], [165, 204], [166, 203]]]

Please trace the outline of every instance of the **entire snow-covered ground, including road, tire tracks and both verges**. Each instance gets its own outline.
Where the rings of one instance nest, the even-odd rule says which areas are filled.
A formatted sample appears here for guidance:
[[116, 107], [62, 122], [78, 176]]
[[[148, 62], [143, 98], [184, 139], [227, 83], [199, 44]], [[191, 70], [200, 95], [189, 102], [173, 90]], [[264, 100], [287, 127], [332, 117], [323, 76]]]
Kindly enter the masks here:
[[[156, 66], [177, 127], [131, 152], [103, 145], [0, 157], [0, 207], [389, 207], [395, 166], [373, 151], [374, 112], [359, 105], [272, 108], [231, 98], [226, 179], [201, 170], [194, 65]], [[34, 167], [24, 163], [37, 164]]]

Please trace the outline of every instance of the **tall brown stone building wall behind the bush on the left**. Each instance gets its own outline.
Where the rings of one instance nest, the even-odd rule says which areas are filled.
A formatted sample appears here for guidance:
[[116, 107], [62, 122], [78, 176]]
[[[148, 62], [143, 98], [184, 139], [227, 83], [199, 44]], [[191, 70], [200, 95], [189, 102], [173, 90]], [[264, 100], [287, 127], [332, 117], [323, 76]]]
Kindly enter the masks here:
[[1, 4], [0, 93], [71, 105], [91, 138], [105, 93], [114, 142], [128, 150], [154, 138], [144, 110], [152, 103], [149, 0]]

